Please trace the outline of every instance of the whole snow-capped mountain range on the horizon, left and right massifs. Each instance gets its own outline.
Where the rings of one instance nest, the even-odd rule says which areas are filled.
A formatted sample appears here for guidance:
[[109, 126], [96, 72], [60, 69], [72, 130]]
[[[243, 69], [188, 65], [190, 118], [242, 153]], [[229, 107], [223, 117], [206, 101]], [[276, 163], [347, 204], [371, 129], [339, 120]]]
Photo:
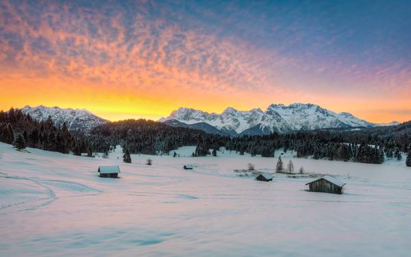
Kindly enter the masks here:
[[[50, 116], [57, 126], [61, 126], [66, 122], [69, 130], [81, 129], [87, 131], [92, 127], [110, 122], [85, 109], [25, 106], [21, 110], [38, 121], [45, 121]], [[312, 103], [292, 103], [289, 106], [271, 104], [265, 111], [260, 108], [240, 111], [229, 107], [221, 114], [203, 112], [192, 108], [179, 108], [173, 111], [169, 117], [162, 118], [159, 121], [173, 127], [189, 127], [229, 136], [399, 124], [396, 121], [392, 123], [371, 123], [358, 119], [348, 112], [332, 112]]]

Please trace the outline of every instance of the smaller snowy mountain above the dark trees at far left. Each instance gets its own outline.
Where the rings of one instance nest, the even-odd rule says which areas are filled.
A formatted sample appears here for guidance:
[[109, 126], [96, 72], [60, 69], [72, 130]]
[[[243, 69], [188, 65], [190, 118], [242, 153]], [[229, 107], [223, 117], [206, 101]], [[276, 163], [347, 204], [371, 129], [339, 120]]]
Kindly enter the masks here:
[[30, 114], [30, 116], [37, 121], [45, 121], [51, 116], [54, 125], [59, 127], [66, 122], [69, 130], [90, 130], [92, 127], [97, 127], [98, 125], [109, 122], [84, 109], [62, 109], [57, 106], [25, 106], [21, 111], [24, 114]]

